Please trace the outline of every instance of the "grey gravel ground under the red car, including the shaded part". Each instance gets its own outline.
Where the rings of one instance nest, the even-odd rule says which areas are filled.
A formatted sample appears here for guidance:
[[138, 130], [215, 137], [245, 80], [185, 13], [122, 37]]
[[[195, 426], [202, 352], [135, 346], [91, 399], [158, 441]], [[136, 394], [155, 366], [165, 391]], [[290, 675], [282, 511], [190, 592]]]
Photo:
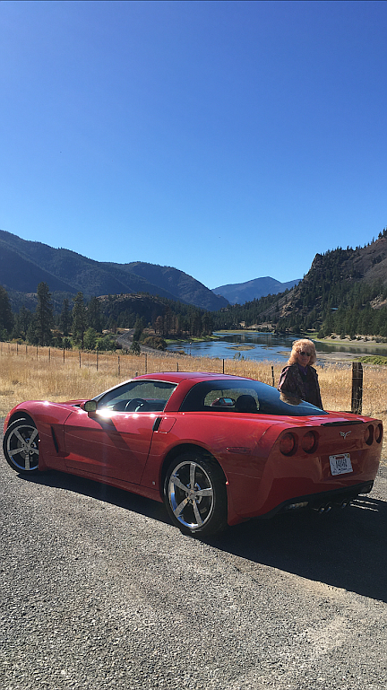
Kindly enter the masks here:
[[4, 690], [385, 690], [387, 467], [345, 511], [207, 542], [133, 494], [0, 474]]

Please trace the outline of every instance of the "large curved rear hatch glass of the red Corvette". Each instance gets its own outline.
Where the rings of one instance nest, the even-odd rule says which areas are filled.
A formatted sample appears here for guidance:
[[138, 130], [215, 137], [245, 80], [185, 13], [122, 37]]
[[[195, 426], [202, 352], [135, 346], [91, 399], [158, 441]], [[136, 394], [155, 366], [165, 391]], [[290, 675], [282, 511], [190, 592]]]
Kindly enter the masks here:
[[299, 397], [254, 380], [211, 380], [197, 383], [187, 393], [181, 412], [249, 412], [260, 415], [310, 416], [327, 413]]

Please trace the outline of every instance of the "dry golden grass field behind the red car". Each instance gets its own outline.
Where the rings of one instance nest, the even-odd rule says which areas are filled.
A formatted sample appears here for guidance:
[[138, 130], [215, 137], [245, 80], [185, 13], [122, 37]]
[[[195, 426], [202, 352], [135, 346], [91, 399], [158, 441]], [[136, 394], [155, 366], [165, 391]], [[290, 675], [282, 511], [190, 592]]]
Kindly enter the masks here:
[[[272, 385], [272, 362], [225, 360], [225, 373], [248, 376]], [[0, 415], [23, 400], [72, 400], [93, 397], [145, 371], [223, 371], [219, 359], [178, 354], [80, 354], [48, 347], [13, 343], [0, 344]], [[280, 364], [273, 365], [274, 382], [280, 378]], [[325, 364], [317, 367], [323, 405], [328, 410], [350, 410], [350, 367]], [[363, 414], [387, 422], [387, 367], [364, 365]], [[383, 458], [386, 457], [383, 447]]]

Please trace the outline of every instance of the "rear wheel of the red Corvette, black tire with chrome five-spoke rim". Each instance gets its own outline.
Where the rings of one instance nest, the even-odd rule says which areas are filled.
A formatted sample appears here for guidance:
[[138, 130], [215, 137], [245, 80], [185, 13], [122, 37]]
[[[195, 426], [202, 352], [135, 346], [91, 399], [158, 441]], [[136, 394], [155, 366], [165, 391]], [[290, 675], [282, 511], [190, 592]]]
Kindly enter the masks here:
[[227, 526], [226, 479], [219, 465], [199, 454], [184, 453], [171, 462], [164, 502], [184, 534], [208, 537]]

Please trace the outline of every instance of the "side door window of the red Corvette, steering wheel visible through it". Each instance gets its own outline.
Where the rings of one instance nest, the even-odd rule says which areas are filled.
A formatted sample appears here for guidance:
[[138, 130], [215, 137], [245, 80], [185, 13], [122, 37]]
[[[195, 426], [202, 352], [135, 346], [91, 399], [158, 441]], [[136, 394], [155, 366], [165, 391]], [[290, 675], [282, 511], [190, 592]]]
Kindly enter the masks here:
[[176, 383], [167, 381], [129, 381], [116, 389], [94, 398], [99, 409], [115, 412], [162, 412]]

